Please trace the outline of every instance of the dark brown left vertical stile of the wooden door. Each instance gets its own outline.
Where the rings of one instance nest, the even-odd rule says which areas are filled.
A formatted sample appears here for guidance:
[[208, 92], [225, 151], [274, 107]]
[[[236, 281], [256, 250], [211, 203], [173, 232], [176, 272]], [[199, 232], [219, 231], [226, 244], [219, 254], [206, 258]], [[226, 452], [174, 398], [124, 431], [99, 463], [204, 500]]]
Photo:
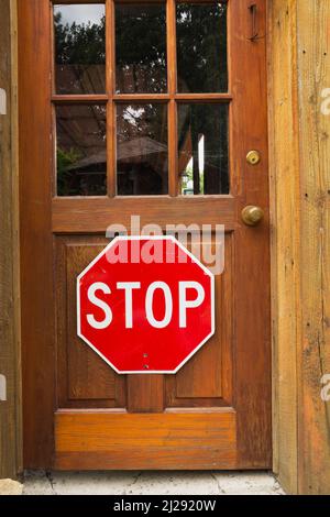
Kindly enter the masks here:
[[51, 9], [38, 0], [19, 0], [18, 9], [23, 454], [24, 465], [51, 468], [55, 408]]

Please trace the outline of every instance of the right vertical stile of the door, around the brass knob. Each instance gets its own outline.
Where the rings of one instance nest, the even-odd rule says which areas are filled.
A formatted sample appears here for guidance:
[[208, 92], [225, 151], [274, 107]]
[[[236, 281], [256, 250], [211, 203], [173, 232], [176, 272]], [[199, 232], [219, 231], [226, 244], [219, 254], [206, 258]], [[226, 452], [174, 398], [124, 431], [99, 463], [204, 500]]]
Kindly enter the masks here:
[[[267, 90], [266, 90], [266, 2], [257, 1], [258, 37], [251, 42], [249, 0], [234, 16], [230, 10], [232, 53], [232, 127], [234, 168], [240, 172], [237, 198], [234, 317], [235, 317], [235, 400], [238, 414], [238, 462], [240, 466], [272, 465], [271, 421], [271, 289], [270, 289], [270, 219], [267, 157]], [[249, 77], [249, 80], [244, 78]], [[235, 123], [240, 120], [240, 124]], [[239, 129], [239, 130], [238, 130]], [[261, 153], [261, 162], [251, 166], [246, 154]], [[265, 211], [258, 227], [249, 228], [241, 220], [246, 205]], [[246, 250], [246, 252], [244, 252]], [[249, 250], [249, 252], [248, 252]], [[260, 282], [260, 278], [266, 282]], [[246, 324], [252, 321], [252, 324]], [[250, 358], [255, 358], [251, 361]], [[265, 375], [265, 372], [267, 374]], [[261, 409], [255, 410], [256, 407]], [[252, 438], [246, 441], [246, 433]]]

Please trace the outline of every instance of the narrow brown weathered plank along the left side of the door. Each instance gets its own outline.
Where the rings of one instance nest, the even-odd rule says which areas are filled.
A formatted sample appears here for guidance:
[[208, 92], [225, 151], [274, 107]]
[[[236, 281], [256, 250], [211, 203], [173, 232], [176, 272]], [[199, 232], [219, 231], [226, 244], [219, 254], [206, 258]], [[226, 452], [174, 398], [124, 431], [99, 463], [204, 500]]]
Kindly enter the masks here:
[[[0, 0], [0, 374], [6, 400], [0, 402], [0, 479], [22, 469], [19, 333], [16, 6]], [[6, 97], [6, 99], [4, 99]]]

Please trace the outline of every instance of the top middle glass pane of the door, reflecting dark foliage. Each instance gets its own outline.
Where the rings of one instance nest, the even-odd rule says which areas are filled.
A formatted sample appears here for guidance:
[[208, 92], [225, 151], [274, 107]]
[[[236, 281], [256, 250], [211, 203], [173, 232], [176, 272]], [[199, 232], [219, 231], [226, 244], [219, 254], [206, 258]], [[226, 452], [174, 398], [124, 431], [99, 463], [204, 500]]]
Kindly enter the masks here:
[[166, 91], [166, 6], [116, 4], [116, 90]]

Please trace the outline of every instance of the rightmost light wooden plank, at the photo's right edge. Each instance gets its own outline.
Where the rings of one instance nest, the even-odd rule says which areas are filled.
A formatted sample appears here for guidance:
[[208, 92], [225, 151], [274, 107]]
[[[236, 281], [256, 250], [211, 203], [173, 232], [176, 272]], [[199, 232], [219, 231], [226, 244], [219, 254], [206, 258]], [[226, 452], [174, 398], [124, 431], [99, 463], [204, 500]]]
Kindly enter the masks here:
[[302, 340], [298, 349], [298, 486], [301, 494], [330, 490], [330, 402], [321, 378], [330, 373], [330, 1], [297, 2], [301, 185]]

